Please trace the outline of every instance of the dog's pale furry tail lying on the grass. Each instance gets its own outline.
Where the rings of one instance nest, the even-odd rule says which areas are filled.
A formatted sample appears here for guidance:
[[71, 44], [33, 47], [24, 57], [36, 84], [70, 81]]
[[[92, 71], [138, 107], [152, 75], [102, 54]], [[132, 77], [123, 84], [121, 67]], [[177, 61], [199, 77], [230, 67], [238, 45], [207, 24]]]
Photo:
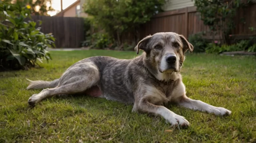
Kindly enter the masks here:
[[30, 84], [28, 85], [27, 89], [44, 89], [44, 88], [54, 88], [58, 86], [59, 84], [59, 79], [56, 79], [54, 81], [42, 81], [42, 80], [37, 80], [37, 81], [32, 81], [29, 79], [26, 79], [30, 81]]

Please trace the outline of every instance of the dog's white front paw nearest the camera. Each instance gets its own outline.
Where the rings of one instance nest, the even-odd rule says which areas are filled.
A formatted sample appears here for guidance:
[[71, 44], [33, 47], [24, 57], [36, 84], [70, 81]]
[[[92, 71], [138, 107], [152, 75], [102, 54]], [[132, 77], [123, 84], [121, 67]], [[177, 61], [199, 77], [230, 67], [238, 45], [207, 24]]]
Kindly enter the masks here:
[[187, 127], [189, 126], [189, 122], [185, 119], [185, 117], [180, 116], [180, 115], [173, 115], [168, 119], [169, 123], [172, 124], [172, 126], [177, 126], [177, 125], [181, 125], [183, 127]]

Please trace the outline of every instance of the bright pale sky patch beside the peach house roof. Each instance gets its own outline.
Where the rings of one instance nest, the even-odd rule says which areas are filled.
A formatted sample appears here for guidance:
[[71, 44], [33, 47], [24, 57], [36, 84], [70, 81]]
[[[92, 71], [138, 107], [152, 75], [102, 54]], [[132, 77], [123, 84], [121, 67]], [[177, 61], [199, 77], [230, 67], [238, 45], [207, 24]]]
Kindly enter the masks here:
[[[70, 6], [72, 3], [74, 3], [77, 0], [62, 0], [62, 6], [63, 10]], [[55, 11], [48, 11], [47, 13], [50, 16], [53, 16], [57, 13], [57, 11], [60, 11], [60, 0], [52, 0], [52, 8], [55, 9]]]

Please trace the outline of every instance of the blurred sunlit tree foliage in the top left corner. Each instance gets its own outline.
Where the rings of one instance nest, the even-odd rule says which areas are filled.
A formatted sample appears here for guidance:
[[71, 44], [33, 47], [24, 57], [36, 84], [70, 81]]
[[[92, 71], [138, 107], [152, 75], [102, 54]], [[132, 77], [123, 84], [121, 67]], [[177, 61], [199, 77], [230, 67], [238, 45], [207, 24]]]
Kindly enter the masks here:
[[14, 5], [25, 7], [29, 5], [31, 15], [45, 15], [48, 16], [47, 11], [53, 11], [52, 0], [4, 0], [11, 2]]

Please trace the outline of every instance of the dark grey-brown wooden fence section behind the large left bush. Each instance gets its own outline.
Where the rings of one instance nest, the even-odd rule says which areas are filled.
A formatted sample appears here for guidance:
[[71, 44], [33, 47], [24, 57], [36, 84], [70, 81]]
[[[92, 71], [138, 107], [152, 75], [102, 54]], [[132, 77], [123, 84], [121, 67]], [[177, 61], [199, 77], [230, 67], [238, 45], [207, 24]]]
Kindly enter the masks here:
[[42, 21], [41, 32], [52, 33], [56, 48], [77, 48], [84, 40], [84, 20], [78, 17], [31, 16]]

